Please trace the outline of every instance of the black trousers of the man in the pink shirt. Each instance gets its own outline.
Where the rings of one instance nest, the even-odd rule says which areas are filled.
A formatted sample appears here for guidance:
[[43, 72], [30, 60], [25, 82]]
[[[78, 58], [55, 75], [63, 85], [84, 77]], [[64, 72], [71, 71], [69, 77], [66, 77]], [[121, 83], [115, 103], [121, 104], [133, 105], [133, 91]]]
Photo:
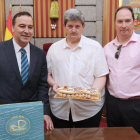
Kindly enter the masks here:
[[132, 126], [140, 134], [140, 99], [122, 100], [107, 91], [106, 109], [109, 127]]

